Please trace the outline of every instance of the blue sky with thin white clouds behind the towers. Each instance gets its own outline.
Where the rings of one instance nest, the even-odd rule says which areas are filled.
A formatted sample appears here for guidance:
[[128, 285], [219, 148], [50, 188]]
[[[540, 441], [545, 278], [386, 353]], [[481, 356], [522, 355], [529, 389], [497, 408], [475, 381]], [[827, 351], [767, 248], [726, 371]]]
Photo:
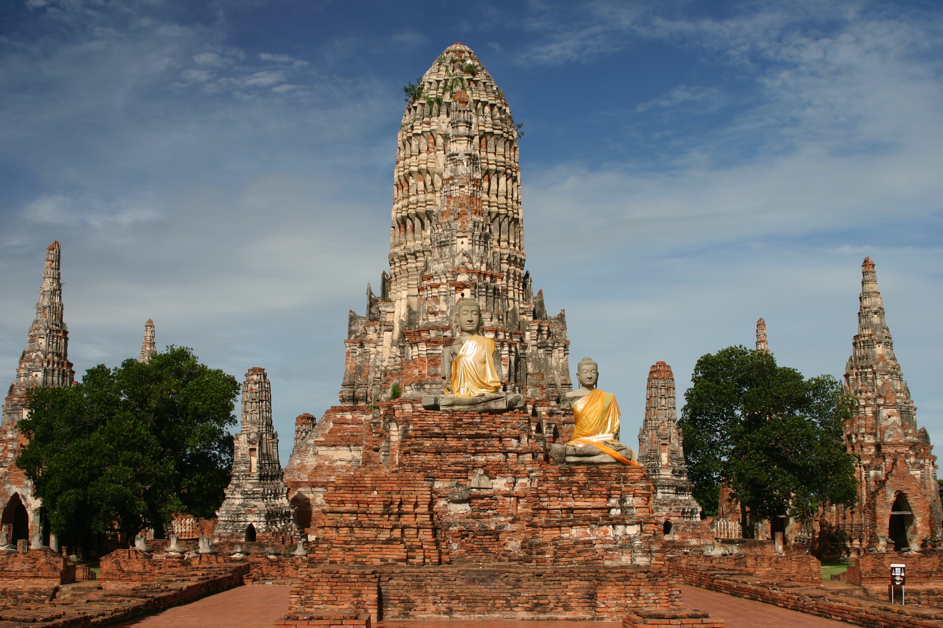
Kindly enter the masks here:
[[935, 2], [6, 0], [0, 380], [58, 239], [79, 374], [153, 318], [158, 346], [267, 369], [286, 462], [388, 267], [401, 89], [455, 41], [524, 123], [527, 267], [623, 442], [651, 364], [680, 397], [760, 316], [781, 364], [841, 377], [866, 255], [943, 442]]

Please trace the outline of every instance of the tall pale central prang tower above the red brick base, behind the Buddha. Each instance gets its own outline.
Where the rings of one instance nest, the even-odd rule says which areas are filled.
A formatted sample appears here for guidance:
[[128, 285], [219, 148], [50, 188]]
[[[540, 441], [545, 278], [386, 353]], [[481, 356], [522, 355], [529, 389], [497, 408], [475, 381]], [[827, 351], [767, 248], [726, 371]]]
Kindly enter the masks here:
[[524, 271], [518, 130], [472, 50], [449, 46], [412, 90], [397, 137], [389, 275], [350, 314], [342, 404], [442, 390], [438, 347], [462, 298], [482, 307], [504, 388], [538, 402], [571, 390], [566, 316]]

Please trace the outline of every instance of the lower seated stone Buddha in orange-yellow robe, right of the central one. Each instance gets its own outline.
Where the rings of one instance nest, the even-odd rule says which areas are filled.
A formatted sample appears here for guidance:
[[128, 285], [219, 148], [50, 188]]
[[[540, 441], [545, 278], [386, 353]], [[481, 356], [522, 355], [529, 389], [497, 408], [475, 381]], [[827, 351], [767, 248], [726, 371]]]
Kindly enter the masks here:
[[596, 388], [599, 365], [584, 358], [576, 365], [576, 378], [581, 387], [560, 400], [560, 407], [570, 409], [576, 424], [569, 443], [556, 443], [550, 455], [557, 464], [611, 464], [621, 462], [638, 466], [631, 447], [616, 440], [619, 432], [619, 404], [616, 395]]

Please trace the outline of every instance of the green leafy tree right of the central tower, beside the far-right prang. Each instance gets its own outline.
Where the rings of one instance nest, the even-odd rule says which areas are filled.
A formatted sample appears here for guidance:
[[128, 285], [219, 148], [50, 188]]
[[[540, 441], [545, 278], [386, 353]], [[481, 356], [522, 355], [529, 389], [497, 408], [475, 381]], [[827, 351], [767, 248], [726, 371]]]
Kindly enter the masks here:
[[743, 534], [776, 516], [857, 499], [856, 459], [841, 443], [853, 398], [829, 375], [803, 378], [768, 351], [729, 346], [694, 367], [679, 422], [695, 497], [717, 511], [720, 484], [740, 501]]

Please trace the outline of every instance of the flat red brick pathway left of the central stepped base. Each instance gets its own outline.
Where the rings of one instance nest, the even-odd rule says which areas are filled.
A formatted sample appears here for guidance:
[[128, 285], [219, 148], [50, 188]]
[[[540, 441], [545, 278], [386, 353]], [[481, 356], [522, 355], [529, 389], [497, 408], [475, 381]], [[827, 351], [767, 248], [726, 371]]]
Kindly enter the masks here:
[[291, 585], [230, 588], [202, 600], [119, 624], [134, 628], [273, 628], [289, 610]]

